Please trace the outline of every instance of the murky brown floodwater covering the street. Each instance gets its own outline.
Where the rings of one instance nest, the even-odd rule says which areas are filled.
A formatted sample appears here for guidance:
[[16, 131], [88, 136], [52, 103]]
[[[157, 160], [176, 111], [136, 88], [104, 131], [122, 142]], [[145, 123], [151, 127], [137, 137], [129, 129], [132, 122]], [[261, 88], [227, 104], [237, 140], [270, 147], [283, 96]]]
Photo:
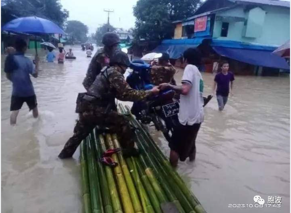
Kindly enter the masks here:
[[[75, 101], [90, 62], [79, 46], [73, 52], [76, 60], [40, 63], [38, 78], [31, 77], [39, 118], [24, 104], [14, 127], [9, 125], [11, 83], [1, 70], [3, 213], [82, 212], [79, 150], [73, 160], [57, 158], [72, 135]], [[203, 73], [203, 78], [208, 95], [214, 76]], [[168, 156], [162, 134], [150, 132]], [[196, 161], [180, 162], [178, 172], [208, 213], [290, 212], [290, 77], [236, 76], [225, 111], [218, 111], [216, 98], [206, 106], [196, 145]], [[281, 208], [255, 208], [256, 195], [265, 204], [268, 196], [280, 196]]]

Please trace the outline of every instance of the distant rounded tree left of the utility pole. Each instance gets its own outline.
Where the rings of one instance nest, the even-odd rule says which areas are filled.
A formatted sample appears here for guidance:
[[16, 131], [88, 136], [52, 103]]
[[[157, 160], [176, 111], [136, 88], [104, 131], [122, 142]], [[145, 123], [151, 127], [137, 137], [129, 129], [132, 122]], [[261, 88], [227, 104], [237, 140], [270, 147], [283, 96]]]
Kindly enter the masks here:
[[65, 26], [65, 32], [71, 35], [72, 42], [81, 41], [82, 43], [84, 43], [88, 39], [88, 26], [83, 24], [81, 21], [67, 21]]

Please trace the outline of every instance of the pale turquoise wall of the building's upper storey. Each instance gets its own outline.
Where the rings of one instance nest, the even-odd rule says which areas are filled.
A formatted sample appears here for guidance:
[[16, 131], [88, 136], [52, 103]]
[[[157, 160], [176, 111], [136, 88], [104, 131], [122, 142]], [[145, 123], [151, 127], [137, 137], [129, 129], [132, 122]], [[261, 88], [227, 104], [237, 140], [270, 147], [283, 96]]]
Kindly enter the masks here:
[[[250, 27], [246, 27], [247, 22], [229, 22], [227, 37], [221, 37], [222, 21], [215, 21], [213, 37], [225, 40], [235, 40], [242, 42], [253, 42], [267, 45], [282, 45], [290, 39], [290, 9], [276, 6], [261, 6], [252, 10], [249, 18], [249, 11], [245, 11], [243, 6], [239, 6], [227, 11], [218, 12], [216, 15], [245, 17], [249, 21]], [[266, 13], [265, 13], [266, 12]], [[265, 14], [265, 15], [264, 15]], [[256, 26], [258, 29], [256, 29]], [[246, 37], [246, 31], [248, 32]], [[252, 33], [254, 30], [254, 33]]]

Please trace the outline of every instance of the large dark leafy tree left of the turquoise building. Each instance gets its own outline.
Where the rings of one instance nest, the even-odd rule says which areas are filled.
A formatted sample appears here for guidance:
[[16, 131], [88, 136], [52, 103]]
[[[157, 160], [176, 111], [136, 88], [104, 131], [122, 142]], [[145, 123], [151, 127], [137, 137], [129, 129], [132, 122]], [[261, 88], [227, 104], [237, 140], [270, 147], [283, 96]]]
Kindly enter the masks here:
[[136, 39], [161, 40], [171, 38], [172, 21], [193, 15], [201, 0], [138, 0], [133, 8], [136, 17]]

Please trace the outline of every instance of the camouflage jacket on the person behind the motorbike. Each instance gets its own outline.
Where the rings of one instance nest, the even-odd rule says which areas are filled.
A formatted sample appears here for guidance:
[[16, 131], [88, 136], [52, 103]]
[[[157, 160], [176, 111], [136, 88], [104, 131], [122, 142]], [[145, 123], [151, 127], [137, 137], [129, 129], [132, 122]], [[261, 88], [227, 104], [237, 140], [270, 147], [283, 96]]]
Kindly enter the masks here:
[[170, 83], [172, 82], [175, 73], [176, 70], [172, 65], [154, 65], [151, 69], [151, 82], [154, 85], [159, 85], [161, 83]]

